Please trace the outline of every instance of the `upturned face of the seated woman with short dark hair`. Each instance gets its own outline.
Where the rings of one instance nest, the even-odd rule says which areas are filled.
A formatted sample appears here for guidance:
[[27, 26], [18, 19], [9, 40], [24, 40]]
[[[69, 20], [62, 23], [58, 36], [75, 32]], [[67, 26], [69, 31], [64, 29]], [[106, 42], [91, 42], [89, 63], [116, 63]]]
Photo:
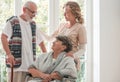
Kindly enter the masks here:
[[66, 49], [65, 45], [62, 45], [62, 41], [55, 40], [52, 45], [53, 51], [64, 51]]

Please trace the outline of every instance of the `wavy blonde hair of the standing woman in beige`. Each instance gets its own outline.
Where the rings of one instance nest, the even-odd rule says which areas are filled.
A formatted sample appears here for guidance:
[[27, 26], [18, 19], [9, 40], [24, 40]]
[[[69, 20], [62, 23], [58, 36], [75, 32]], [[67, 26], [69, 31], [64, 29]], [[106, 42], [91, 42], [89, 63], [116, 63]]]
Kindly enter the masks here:
[[79, 22], [80, 24], [83, 24], [84, 19], [82, 17], [79, 4], [77, 2], [74, 2], [74, 1], [68, 1], [66, 4], [64, 4], [63, 8], [65, 8], [66, 6], [70, 7], [72, 14], [76, 18], [76, 21]]

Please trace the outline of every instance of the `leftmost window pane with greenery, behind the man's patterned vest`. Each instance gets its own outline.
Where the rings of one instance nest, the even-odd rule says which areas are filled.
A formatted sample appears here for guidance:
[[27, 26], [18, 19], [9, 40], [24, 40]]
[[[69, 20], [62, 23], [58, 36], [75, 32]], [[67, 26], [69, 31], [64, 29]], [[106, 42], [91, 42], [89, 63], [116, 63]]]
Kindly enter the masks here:
[[[9, 11], [9, 12], [8, 12]], [[14, 14], [14, 0], [1, 0], [0, 1], [0, 34], [4, 27], [6, 20]], [[0, 40], [1, 42], [1, 40]], [[6, 70], [4, 60], [4, 51], [0, 44], [0, 82], [6, 82]]]

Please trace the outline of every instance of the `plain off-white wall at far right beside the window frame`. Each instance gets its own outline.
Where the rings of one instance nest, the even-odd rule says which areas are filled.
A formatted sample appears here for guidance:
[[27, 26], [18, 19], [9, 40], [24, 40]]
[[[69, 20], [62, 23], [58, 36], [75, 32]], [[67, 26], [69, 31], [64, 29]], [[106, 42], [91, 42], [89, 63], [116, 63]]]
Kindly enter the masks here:
[[100, 82], [120, 82], [120, 0], [100, 0]]

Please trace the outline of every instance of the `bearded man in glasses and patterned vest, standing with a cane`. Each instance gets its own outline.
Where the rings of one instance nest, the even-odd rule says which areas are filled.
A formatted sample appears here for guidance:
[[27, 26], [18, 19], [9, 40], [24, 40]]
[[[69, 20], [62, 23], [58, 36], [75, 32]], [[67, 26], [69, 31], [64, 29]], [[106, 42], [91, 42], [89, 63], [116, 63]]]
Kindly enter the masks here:
[[[43, 38], [35, 21], [32, 20], [36, 13], [37, 5], [27, 1], [23, 5], [23, 13], [9, 18], [3, 29], [1, 40], [6, 52], [7, 67], [14, 67], [13, 82], [24, 82], [28, 67], [35, 59], [36, 43], [46, 52]], [[8, 70], [8, 82], [10, 75]]]

